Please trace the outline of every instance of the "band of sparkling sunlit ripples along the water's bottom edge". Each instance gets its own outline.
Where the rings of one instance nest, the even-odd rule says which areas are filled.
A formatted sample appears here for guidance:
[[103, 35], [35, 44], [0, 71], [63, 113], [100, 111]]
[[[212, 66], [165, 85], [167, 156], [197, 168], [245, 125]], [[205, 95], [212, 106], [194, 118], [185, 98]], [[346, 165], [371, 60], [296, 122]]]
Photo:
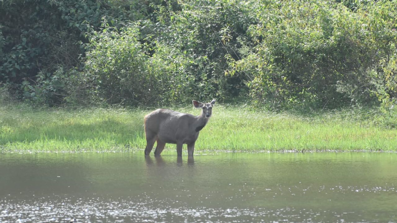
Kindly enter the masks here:
[[[172, 200], [62, 198], [0, 200], [0, 222], [348, 222], [354, 212], [295, 208], [206, 208], [170, 206]], [[355, 216], [357, 217], [357, 216]], [[372, 222], [362, 220], [360, 222]], [[373, 221], [376, 222], [376, 221]]]

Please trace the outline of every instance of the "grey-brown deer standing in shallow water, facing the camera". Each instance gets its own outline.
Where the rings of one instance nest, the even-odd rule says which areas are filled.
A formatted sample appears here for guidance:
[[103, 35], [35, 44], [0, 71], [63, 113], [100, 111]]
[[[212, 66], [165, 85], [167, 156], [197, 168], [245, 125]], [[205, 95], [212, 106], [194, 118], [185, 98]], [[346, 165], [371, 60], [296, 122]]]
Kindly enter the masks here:
[[187, 154], [193, 157], [195, 143], [200, 130], [204, 128], [212, 115], [215, 99], [209, 103], [200, 103], [193, 100], [193, 106], [202, 109], [200, 115], [175, 112], [168, 109], [157, 109], [144, 118], [146, 135], [145, 156], [152, 151], [154, 142], [157, 142], [154, 156], [160, 156], [166, 143], [176, 144], [177, 156], [182, 156], [182, 146], [187, 144]]

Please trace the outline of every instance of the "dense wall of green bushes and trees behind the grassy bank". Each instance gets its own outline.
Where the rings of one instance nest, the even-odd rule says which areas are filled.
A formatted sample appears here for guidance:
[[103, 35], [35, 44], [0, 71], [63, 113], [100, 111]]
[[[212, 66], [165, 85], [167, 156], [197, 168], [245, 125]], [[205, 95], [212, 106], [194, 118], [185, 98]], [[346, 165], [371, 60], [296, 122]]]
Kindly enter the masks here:
[[0, 100], [382, 106], [396, 0], [4, 0]]

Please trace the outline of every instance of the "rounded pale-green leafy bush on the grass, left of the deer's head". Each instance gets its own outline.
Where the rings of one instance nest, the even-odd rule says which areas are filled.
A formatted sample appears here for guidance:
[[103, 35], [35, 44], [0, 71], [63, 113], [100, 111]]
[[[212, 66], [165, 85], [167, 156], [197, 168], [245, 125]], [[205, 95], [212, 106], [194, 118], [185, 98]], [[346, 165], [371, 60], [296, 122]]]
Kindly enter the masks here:
[[[104, 27], [88, 45], [85, 77], [94, 86], [94, 98], [108, 104], [158, 105], [191, 100], [194, 83], [185, 54], [156, 43], [139, 42], [137, 25], [117, 31]], [[149, 51], [155, 53], [151, 56]]]

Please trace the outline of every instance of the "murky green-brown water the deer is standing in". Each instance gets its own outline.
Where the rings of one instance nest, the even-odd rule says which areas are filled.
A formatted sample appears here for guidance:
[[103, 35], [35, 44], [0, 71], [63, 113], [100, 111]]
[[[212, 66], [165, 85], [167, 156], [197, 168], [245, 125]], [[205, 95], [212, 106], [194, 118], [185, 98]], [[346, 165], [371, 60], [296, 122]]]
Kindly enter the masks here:
[[395, 153], [0, 154], [0, 222], [397, 222]]

